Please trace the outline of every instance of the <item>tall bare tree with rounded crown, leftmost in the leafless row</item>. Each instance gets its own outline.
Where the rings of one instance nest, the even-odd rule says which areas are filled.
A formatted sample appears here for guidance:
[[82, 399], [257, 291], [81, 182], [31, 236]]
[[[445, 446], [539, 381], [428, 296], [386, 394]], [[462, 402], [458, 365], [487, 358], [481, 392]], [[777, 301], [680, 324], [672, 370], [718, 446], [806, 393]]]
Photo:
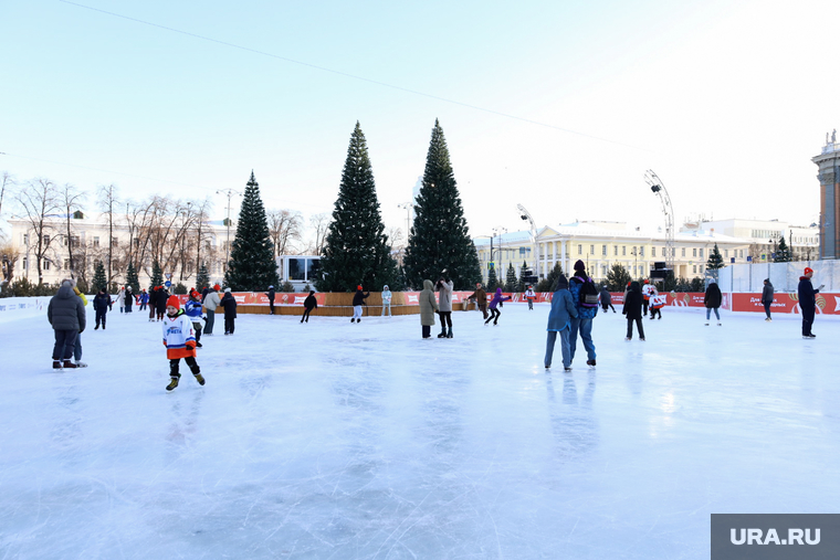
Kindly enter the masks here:
[[34, 253], [40, 285], [44, 283], [43, 260], [56, 233], [54, 220], [50, 220], [50, 216], [61, 211], [61, 194], [51, 180], [33, 179], [17, 191], [14, 199], [23, 211], [24, 220], [29, 222], [29, 230], [35, 236], [34, 240], [28, 240], [28, 244]]

